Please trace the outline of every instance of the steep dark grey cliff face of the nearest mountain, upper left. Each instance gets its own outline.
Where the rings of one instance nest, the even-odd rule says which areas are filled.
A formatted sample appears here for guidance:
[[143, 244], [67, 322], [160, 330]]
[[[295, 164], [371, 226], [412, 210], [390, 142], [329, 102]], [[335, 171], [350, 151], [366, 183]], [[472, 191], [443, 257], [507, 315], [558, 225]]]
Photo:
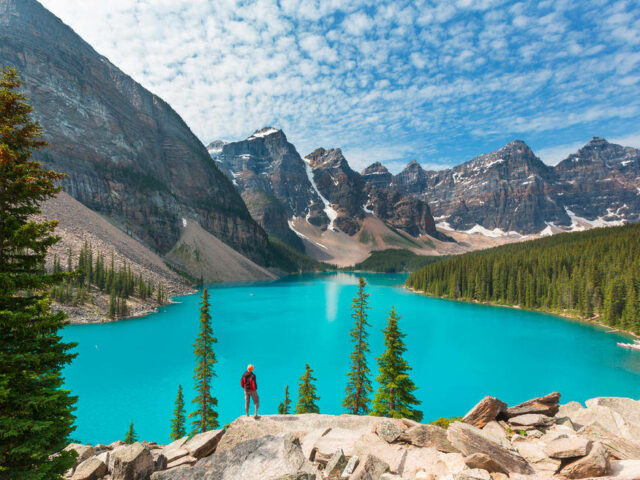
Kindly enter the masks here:
[[0, 0], [0, 65], [14, 66], [64, 189], [165, 253], [182, 218], [258, 261], [268, 241], [180, 116], [35, 0]]

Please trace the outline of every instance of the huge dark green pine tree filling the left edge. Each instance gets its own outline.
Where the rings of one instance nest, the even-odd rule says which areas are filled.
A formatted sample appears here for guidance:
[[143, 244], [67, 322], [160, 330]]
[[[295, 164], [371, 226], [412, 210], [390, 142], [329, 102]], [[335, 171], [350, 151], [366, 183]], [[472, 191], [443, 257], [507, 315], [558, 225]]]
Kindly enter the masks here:
[[0, 477], [58, 478], [74, 462], [60, 452], [74, 429], [75, 398], [62, 388], [74, 344], [62, 343], [62, 312], [46, 292], [64, 277], [47, 274], [55, 221], [39, 222], [40, 203], [60, 191], [63, 174], [31, 159], [46, 144], [19, 93], [12, 68], [0, 71]]

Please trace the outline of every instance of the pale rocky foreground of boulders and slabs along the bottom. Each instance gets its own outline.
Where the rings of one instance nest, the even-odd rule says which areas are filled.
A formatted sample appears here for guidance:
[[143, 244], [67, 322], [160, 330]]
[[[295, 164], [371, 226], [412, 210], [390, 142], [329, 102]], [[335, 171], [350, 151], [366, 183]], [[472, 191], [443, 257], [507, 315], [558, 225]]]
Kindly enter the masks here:
[[71, 444], [72, 480], [640, 479], [640, 401], [508, 407], [485, 397], [447, 429], [354, 415], [241, 417], [169, 445]]

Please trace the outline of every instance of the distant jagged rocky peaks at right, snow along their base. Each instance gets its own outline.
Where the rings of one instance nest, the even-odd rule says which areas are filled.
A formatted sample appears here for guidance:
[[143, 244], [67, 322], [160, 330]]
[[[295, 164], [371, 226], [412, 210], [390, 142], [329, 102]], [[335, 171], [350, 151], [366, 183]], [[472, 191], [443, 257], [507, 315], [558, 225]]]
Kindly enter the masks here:
[[488, 236], [640, 220], [640, 150], [597, 137], [556, 167], [516, 140], [451, 169], [426, 171], [414, 161], [391, 179], [366, 178], [428, 201], [445, 229]]

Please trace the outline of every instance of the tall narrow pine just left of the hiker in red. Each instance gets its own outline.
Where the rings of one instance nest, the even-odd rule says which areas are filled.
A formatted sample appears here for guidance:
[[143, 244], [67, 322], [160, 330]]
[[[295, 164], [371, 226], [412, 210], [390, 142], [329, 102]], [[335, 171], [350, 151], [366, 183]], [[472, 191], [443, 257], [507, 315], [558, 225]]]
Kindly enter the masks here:
[[193, 378], [198, 394], [193, 403], [197, 405], [197, 409], [189, 414], [189, 418], [193, 418], [191, 428], [194, 434], [218, 427], [218, 412], [215, 410], [218, 400], [211, 396], [211, 379], [216, 376], [214, 366], [217, 363], [213, 344], [217, 342], [211, 328], [209, 292], [205, 288], [200, 306], [200, 332], [194, 344], [196, 368]]

